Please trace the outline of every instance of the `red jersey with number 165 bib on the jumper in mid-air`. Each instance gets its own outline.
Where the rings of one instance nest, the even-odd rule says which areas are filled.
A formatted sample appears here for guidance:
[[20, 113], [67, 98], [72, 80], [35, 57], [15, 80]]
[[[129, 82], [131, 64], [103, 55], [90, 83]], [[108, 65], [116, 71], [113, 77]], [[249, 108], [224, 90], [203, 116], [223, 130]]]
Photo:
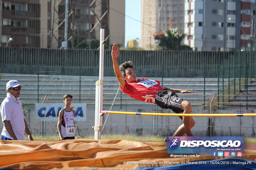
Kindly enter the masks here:
[[124, 88], [121, 91], [136, 100], [155, 103], [155, 95], [158, 91], [165, 89], [160, 86], [157, 80], [147, 80], [144, 78], [138, 79], [134, 83], [125, 82]]

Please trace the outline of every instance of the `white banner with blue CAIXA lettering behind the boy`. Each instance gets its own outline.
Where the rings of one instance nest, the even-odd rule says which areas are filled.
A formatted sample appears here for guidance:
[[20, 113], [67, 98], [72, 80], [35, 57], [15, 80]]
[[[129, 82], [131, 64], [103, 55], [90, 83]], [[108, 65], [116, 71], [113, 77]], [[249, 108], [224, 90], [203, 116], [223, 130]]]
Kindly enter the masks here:
[[[59, 112], [65, 103], [36, 103], [35, 118], [38, 121], [58, 122]], [[70, 107], [76, 111], [74, 121], [86, 121], [86, 103], [72, 103]]]

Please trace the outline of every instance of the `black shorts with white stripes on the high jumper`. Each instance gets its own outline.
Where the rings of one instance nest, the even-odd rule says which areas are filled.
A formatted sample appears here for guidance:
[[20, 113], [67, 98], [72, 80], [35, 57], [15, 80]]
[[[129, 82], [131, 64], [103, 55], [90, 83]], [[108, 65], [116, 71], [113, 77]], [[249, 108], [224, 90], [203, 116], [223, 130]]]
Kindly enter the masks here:
[[[170, 90], [160, 90], [155, 95], [156, 104], [163, 109], [172, 109], [174, 113], [183, 113], [184, 110], [180, 108], [183, 101], [178, 95]], [[182, 116], [179, 116], [182, 119]]]

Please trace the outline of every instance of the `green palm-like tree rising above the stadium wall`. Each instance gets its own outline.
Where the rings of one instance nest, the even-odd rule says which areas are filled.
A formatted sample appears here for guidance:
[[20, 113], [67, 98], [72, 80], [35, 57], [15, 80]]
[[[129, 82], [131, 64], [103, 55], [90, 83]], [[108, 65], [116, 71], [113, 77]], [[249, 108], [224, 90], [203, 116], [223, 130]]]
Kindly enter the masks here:
[[165, 30], [165, 36], [156, 36], [156, 40], [160, 40], [159, 46], [164, 50], [193, 50], [188, 45], [182, 44], [186, 34], [179, 33], [178, 27], [173, 32], [170, 29]]

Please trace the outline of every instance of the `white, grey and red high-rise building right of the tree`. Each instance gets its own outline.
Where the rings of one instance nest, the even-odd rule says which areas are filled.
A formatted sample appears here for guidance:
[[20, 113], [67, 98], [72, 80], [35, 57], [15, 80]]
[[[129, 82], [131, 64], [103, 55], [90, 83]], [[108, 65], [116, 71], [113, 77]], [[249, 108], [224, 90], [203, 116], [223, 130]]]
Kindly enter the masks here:
[[244, 49], [245, 41], [251, 45], [255, 10], [255, 0], [185, 0], [184, 44], [200, 51]]

